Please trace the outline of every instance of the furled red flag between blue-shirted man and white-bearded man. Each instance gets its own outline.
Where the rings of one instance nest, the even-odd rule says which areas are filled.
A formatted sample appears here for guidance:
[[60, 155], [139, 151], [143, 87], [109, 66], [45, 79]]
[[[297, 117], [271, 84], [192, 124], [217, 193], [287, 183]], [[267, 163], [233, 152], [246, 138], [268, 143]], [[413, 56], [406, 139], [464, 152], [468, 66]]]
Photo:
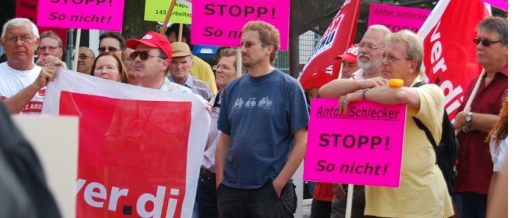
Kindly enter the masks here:
[[336, 60], [336, 56], [353, 44], [360, 9], [361, 0], [343, 3], [298, 77], [303, 89], [319, 88], [338, 77], [339, 67], [334, 66], [341, 60]]

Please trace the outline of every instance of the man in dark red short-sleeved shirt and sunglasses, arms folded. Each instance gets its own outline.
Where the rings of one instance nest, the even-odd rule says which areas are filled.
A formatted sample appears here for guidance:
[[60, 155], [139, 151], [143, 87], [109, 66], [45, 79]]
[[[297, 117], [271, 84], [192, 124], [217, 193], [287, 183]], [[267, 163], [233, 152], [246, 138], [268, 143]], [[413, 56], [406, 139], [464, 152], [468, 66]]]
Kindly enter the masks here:
[[477, 45], [476, 56], [484, 70], [469, 83], [455, 117], [455, 128], [460, 130], [457, 136], [460, 150], [454, 189], [456, 199], [462, 197], [462, 217], [486, 215], [489, 184], [494, 184], [495, 176], [491, 156], [485, 152], [489, 143], [484, 140], [500, 120], [502, 95], [508, 84], [507, 20], [484, 19], [477, 31], [473, 43]]

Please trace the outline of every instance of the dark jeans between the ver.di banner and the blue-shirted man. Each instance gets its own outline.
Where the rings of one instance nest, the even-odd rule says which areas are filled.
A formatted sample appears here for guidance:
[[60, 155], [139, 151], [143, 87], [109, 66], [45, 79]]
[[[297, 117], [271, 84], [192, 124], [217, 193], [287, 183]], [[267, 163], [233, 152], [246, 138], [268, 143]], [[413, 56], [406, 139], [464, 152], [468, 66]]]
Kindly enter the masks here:
[[202, 218], [217, 218], [216, 176], [200, 172], [196, 189], [195, 215]]

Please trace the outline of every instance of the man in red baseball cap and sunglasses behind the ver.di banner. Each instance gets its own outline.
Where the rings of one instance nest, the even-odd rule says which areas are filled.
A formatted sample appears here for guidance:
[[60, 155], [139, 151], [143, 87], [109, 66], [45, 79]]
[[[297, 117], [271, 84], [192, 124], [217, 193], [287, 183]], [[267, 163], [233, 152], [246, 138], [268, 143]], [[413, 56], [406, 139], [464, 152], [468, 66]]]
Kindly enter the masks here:
[[148, 32], [140, 40], [127, 40], [126, 45], [134, 49], [129, 57], [133, 60], [132, 73], [140, 86], [191, 93], [189, 88], [170, 82], [166, 77], [171, 62], [171, 45], [165, 36]]

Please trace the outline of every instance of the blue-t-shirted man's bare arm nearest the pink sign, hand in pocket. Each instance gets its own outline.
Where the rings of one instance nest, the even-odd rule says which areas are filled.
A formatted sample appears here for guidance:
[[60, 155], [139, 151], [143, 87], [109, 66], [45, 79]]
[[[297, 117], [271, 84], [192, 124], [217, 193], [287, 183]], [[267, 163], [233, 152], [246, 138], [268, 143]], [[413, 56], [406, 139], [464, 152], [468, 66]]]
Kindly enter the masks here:
[[293, 136], [295, 136], [295, 146], [292, 148], [291, 154], [289, 154], [286, 165], [283, 166], [277, 178], [273, 180], [273, 187], [275, 187], [275, 191], [279, 197], [283, 186], [286, 186], [292, 175], [295, 174], [295, 171], [297, 171], [300, 166], [303, 157], [306, 156], [307, 129], [301, 128], [295, 132]]

